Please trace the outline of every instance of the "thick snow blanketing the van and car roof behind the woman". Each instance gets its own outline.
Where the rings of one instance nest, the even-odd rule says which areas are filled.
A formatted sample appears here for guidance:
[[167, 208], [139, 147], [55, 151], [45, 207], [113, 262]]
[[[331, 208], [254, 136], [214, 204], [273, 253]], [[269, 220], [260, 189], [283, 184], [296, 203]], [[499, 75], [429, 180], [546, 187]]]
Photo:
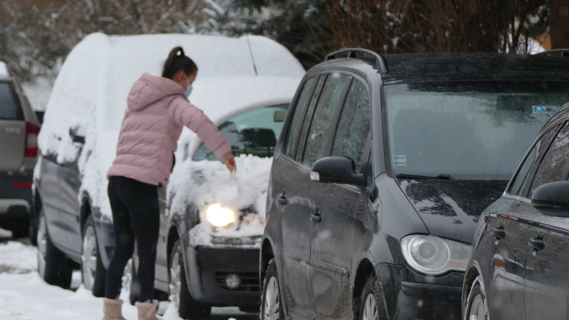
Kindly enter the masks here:
[[[265, 105], [292, 100], [304, 75], [302, 65], [281, 44], [263, 36], [249, 38], [258, 77], [245, 38], [87, 36], [68, 55], [53, 87], [38, 138], [42, 153], [57, 154], [60, 163], [77, 160], [83, 177], [80, 196], [83, 192], [89, 194], [93, 206], [100, 207], [101, 213], [110, 219], [106, 171], [116, 155], [127, 95], [142, 73], [161, 74], [173, 47], [183, 46], [185, 54], [195, 60], [199, 72], [191, 101], [208, 116], [216, 118], [223, 113], [217, 112], [221, 109], [231, 114], [237, 109], [258, 106], [262, 104], [261, 97], [267, 99]], [[221, 77], [232, 80], [224, 83]], [[281, 77], [288, 80], [277, 80]], [[289, 84], [283, 84], [287, 81]], [[85, 136], [82, 149], [72, 142], [69, 129], [77, 129], [77, 134]], [[184, 136], [188, 135], [185, 143], [191, 140], [191, 134], [185, 130]]]

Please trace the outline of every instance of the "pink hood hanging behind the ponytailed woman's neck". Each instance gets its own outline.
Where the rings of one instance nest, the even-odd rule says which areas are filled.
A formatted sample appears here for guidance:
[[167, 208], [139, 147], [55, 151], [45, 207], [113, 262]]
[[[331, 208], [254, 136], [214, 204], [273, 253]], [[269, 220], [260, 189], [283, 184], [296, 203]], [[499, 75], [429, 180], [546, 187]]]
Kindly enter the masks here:
[[130, 89], [128, 106], [130, 110], [138, 111], [164, 97], [175, 95], [185, 97], [184, 90], [179, 84], [164, 77], [145, 73]]

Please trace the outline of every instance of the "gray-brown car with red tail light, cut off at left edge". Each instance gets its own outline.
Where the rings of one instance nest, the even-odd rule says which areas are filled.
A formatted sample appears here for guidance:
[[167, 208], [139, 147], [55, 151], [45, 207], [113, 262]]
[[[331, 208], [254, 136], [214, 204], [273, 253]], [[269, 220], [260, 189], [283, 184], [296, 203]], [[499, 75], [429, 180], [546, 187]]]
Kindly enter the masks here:
[[11, 230], [14, 237], [36, 230], [33, 221], [29, 222], [39, 129], [18, 81], [0, 74], [0, 227]]

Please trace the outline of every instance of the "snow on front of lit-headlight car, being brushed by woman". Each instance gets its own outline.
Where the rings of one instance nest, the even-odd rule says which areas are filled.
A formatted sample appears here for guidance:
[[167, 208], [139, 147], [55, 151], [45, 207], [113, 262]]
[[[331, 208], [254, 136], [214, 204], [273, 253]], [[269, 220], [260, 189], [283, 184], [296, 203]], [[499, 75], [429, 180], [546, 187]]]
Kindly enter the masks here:
[[[224, 247], [224, 241], [216, 243], [217, 237], [243, 239], [242, 247], [260, 247], [272, 161], [240, 155], [236, 158], [236, 182], [219, 161], [188, 160], [176, 165], [167, 190], [170, 212], [184, 214], [189, 203], [200, 211], [200, 223], [189, 231], [190, 245]], [[240, 221], [228, 227], [213, 227], [205, 218], [205, 208], [214, 203], [239, 212]]]

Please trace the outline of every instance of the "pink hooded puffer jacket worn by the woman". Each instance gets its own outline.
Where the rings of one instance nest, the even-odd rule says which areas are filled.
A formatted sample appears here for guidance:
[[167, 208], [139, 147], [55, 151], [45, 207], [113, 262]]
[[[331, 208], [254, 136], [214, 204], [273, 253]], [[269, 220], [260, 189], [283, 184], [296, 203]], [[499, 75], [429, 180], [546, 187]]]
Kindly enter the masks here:
[[218, 158], [231, 152], [217, 127], [189, 103], [182, 87], [170, 79], [145, 73], [130, 90], [128, 106], [117, 158], [107, 177], [166, 186], [184, 125], [197, 133]]

